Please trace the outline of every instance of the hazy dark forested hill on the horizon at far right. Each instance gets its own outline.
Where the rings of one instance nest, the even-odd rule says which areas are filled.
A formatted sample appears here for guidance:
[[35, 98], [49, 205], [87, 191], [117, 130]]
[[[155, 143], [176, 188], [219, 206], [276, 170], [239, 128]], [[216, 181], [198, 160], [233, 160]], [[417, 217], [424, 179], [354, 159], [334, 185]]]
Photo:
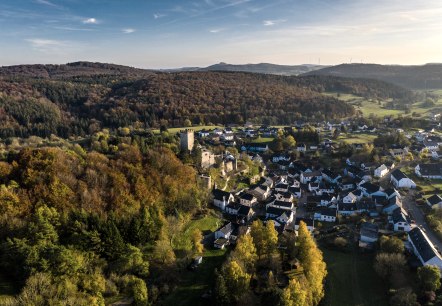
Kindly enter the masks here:
[[342, 64], [307, 72], [305, 75], [370, 78], [409, 89], [442, 88], [442, 64], [426, 64], [422, 66]]

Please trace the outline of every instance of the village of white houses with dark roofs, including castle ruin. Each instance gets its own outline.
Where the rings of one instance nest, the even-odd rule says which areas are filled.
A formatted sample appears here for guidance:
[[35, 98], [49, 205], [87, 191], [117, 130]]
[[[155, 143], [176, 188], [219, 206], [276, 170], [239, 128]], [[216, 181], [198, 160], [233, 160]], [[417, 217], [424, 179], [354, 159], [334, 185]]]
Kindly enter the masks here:
[[[296, 233], [304, 222], [320, 245], [354, 245], [372, 253], [381, 237], [394, 236], [403, 241], [412, 268], [442, 269], [441, 235], [426, 216], [442, 208], [438, 129], [436, 122], [425, 130], [392, 129], [388, 119], [377, 127], [341, 122], [186, 129], [180, 145], [191, 151], [195, 143], [201, 150], [203, 185], [225, 220], [214, 232], [214, 248], [235, 244], [257, 219], [272, 221], [280, 234]], [[298, 142], [296, 135], [311, 139]], [[375, 147], [379, 135], [407, 143]], [[295, 142], [287, 141], [292, 136]], [[277, 140], [284, 145], [278, 147]], [[248, 173], [247, 164], [258, 171]], [[238, 177], [246, 180], [238, 183]]]

